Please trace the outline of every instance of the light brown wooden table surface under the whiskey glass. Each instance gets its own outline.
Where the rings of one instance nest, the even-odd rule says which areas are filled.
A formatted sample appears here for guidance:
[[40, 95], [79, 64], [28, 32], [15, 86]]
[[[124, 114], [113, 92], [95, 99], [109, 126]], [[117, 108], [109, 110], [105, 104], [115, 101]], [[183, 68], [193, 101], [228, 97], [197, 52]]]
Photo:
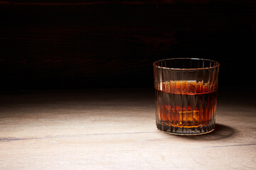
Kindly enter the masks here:
[[216, 129], [156, 129], [154, 90], [1, 94], [0, 169], [256, 169], [256, 108], [219, 94]]

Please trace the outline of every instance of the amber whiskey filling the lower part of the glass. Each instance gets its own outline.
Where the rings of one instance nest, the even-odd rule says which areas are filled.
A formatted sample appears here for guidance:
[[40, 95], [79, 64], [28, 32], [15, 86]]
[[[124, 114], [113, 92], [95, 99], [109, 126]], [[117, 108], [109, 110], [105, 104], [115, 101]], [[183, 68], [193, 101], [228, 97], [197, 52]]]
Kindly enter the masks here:
[[[156, 86], [156, 125], [166, 132], [195, 133], [215, 125], [217, 91], [203, 81], [165, 81]], [[205, 130], [204, 130], [205, 129]]]

